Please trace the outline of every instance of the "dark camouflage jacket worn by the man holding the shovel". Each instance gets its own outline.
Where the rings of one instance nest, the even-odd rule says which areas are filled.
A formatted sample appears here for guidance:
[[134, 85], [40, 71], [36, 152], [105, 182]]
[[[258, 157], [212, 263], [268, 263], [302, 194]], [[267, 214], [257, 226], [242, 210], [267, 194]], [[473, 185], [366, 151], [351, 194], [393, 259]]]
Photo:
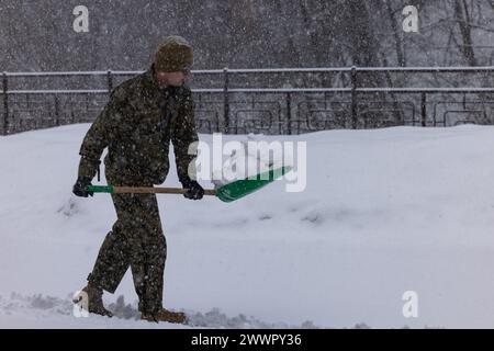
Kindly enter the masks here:
[[198, 140], [191, 91], [186, 86], [160, 89], [151, 66], [112, 91], [85, 136], [78, 176], [92, 179], [108, 147], [104, 166], [109, 183], [162, 183], [168, 174], [170, 140], [183, 182], [195, 158], [189, 155], [189, 145]]

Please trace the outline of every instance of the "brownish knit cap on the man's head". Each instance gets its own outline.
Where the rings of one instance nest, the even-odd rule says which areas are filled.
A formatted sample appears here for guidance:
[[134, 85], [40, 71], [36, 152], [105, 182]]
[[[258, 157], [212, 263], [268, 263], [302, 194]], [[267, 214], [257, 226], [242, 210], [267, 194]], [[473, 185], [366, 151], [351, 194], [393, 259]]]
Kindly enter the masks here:
[[158, 72], [176, 72], [190, 69], [193, 64], [192, 46], [183, 37], [165, 37], [155, 53], [155, 69]]

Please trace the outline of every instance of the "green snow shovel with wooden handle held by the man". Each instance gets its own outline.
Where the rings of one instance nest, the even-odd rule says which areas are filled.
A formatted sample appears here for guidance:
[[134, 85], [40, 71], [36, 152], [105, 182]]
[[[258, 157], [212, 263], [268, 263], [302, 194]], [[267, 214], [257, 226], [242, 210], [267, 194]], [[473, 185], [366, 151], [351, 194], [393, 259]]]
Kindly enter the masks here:
[[[223, 202], [232, 202], [244, 197], [262, 186], [271, 183], [281, 176], [290, 172], [292, 167], [283, 166], [277, 169], [271, 169], [267, 172], [251, 176], [247, 179], [234, 181], [228, 184], [224, 184], [217, 189], [205, 189], [204, 195], [213, 195]], [[183, 194], [187, 189], [181, 188], [149, 188], [149, 186], [113, 186], [113, 185], [89, 185], [87, 191], [94, 193], [110, 193], [110, 194]]]

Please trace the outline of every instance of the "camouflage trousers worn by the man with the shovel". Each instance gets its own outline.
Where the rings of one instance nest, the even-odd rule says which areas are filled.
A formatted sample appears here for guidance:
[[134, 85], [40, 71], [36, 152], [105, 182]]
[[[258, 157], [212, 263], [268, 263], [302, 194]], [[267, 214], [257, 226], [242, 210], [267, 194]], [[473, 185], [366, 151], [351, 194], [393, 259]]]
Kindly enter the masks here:
[[[142, 184], [143, 185], [143, 184]], [[162, 308], [167, 244], [155, 194], [112, 194], [117, 219], [106, 235], [88, 281], [114, 293], [128, 267], [139, 310]]]

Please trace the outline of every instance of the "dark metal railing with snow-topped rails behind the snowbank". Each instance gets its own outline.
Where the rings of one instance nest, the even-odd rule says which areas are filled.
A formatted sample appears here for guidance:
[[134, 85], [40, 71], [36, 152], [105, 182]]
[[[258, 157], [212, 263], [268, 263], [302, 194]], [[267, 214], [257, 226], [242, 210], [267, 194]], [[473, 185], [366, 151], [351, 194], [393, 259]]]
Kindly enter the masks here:
[[[141, 72], [3, 72], [0, 134], [91, 122], [111, 90]], [[193, 70], [191, 87], [202, 133], [299, 134], [391, 125], [494, 124], [493, 72], [494, 67], [225, 68]], [[373, 79], [380, 75], [385, 77], [381, 82], [391, 84], [375, 86]], [[419, 79], [420, 75], [427, 79]], [[448, 81], [446, 75], [461, 76]], [[476, 84], [454, 86], [471, 75], [481, 76], [474, 77]], [[431, 86], [430, 77], [441, 86], [411, 83], [426, 80]], [[396, 87], [400, 82], [406, 86]]]

